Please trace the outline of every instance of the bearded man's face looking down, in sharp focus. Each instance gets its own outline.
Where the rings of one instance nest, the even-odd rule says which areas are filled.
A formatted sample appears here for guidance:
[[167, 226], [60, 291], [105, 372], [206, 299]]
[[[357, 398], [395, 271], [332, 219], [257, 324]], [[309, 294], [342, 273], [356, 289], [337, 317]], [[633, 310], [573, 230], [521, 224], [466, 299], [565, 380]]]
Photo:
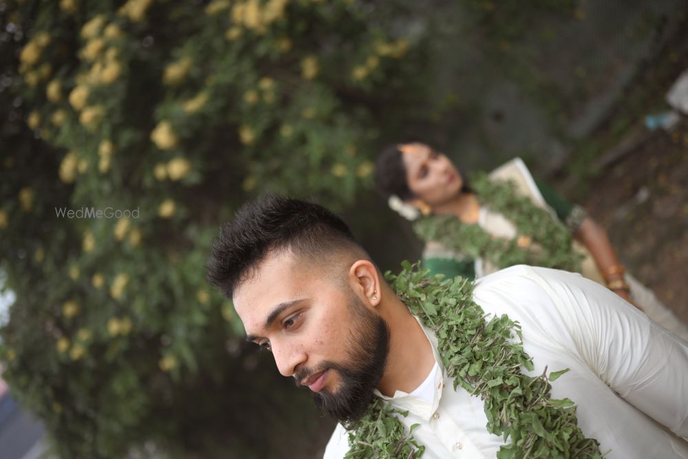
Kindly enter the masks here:
[[283, 376], [308, 386], [330, 416], [356, 420], [383, 375], [389, 330], [345, 272], [322, 268], [289, 250], [268, 255], [234, 304], [247, 339], [272, 351]]

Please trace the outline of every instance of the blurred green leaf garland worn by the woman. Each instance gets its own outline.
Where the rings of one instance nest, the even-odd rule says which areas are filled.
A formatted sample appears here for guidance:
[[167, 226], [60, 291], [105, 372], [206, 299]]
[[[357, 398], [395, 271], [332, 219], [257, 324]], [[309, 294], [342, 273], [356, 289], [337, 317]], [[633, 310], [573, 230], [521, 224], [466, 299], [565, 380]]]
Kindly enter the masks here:
[[[518, 195], [511, 182], [491, 182], [484, 174], [471, 182], [482, 206], [501, 213], [516, 226], [514, 239], [493, 237], [477, 224], [464, 224], [454, 215], [429, 215], [413, 224], [423, 241], [436, 241], [442, 246], [473, 259], [484, 258], [498, 268], [530, 264], [579, 272], [581, 255], [572, 250], [568, 228], [548, 211]], [[519, 237], [531, 241], [519, 246]]]

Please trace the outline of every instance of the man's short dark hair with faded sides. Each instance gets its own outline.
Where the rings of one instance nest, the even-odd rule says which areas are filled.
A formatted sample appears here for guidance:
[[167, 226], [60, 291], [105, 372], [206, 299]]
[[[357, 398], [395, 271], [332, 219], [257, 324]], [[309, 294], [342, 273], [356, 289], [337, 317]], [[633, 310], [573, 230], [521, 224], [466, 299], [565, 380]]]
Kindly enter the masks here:
[[325, 259], [337, 250], [365, 255], [347, 224], [323, 206], [268, 194], [244, 204], [232, 222], [222, 225], [208, 261], [208, 281], [230, 298], [268, 253], [285, 249], [310, 259]]

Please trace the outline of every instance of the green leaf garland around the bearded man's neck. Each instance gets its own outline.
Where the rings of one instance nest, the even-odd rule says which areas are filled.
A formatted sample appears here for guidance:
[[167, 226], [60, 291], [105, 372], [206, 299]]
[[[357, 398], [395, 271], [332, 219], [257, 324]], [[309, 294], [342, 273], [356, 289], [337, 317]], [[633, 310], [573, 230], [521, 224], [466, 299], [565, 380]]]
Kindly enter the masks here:
[[[576, 405], [568, 398], [550, 398], [551, 385], [568, 369], [540, 376], [526, 354], [519, 324], [506, 314], [485, 321], [486, 314], [472, 299], [473, 284], [461, 277], [428, 277], [408, 261], [395, 276], [392, 288], [409, 310], [435, 332], [444, 370], [458, 386], [484, 401], [487, 431], [509, 439], [497, 452], [499, 459], [602, 458], [599, 442], [585, 438], [578, 427]], [[420, 458], [424, 446], [413, 440], [391, 409], [376, 398], [365, 416], [353, 425], [350, 451], [345, 458]]]

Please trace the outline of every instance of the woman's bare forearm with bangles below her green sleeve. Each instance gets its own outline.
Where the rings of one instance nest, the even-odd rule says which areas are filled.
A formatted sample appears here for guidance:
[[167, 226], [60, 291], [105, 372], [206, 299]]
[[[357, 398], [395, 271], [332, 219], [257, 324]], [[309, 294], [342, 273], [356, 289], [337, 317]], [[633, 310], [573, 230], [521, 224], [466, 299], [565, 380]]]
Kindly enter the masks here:
[[610, 290], [638, 308], [638, 305], [631, 301], [629, 288], [623, 280], [623, 266], [621, 266], [619, 258], [616, 257], [616, 252], [605, 229], [592, 220], [590, 216], [586, 216], [574, 233], [574, 237], [590, 250], [590, 255], [594, 258]]

